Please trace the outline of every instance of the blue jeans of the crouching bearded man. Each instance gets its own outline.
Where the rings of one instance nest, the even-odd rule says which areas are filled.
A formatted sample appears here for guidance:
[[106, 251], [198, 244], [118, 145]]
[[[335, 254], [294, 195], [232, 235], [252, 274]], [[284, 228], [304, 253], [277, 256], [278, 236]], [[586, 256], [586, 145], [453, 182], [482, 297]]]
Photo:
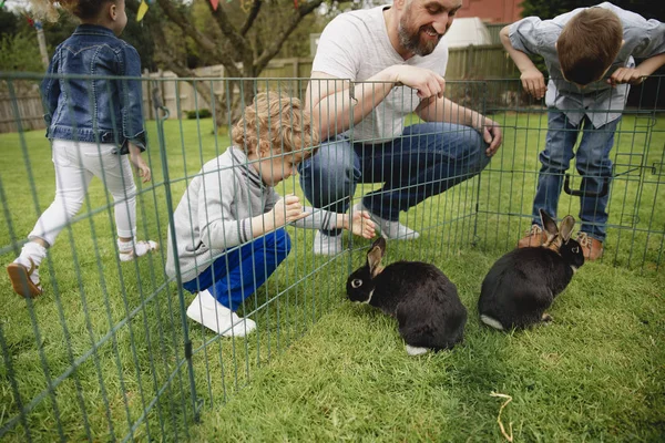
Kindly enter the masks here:
[[374, 145], [337, 136], [300, 164], [300, 186], [315, 207], [345, 213], [358, 183], [383, 183], [362, 204], [398, 220], [400, 210], [480, 173], [490, 162], [485, 150], [475, 130], [450, 123], [407, 126], [400, 137]]

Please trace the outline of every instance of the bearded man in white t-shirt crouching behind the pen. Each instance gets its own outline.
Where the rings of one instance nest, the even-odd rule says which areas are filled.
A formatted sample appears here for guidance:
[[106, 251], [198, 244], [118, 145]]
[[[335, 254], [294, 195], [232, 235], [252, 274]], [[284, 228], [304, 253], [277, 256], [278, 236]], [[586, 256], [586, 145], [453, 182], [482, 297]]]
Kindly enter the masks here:
[[[415, 239], [399, 213], [478, 174], [495, 154], [497, 123], [443, 96], [448, 48], [440, 41], [461, 6], [396, 0], [326, 27], [306, 96], [325, 142], [299, 168], [316, 207], [345, 212], [357, 183], [382, 182], [354, 210], [369, 210], [386, 238]], [[427, 123], [405, 127], [413, 112]], [[318, 231], [315, 254], [339, 253], [339, 233]]]

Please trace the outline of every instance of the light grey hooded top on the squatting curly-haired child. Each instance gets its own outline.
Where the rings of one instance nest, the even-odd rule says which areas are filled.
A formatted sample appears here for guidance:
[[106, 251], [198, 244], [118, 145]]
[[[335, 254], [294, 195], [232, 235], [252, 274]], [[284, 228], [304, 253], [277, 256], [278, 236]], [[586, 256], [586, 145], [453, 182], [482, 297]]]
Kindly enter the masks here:
[[[166, 275], [175, 277], [180, 262], [182, 281], [193, 280], [228, 248], [254, 240], [252, 218], [268, 213], [282, 198], [266, 186], [245, 153], [231, 146], [203, 165], [192, 179], [168, 226]], [[337, 214], [305, 208], [313, 213], [295, 226], [311, 229], [335, 228]], [[175, 229], [173, 248], [171, 229]], [[175, 254], [174, 254], [175, 253]]]

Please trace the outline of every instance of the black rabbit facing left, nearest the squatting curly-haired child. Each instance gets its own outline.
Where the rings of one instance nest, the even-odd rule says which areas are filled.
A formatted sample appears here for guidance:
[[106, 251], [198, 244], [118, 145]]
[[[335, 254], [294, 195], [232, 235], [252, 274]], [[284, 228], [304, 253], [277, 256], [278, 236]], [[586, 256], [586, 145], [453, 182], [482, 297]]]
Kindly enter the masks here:
[[422, 261], [396, 261], [382, 267], [385, 254], [386, 240], [380, 237], [367, 253], [367, 264], [349, 276], [349, 299], [397, 318], [410, 356], [450, 349], [460, 342], [467, 308], [454, 284], [439, 268]]

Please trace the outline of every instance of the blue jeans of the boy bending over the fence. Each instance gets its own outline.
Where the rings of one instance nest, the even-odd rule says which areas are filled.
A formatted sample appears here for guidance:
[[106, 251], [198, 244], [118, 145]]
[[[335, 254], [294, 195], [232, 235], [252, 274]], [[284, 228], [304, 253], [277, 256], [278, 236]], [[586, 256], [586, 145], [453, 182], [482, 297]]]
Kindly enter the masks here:
[[[594, 127], [589, 117], [584, 116], [579, 125], [573, 125], [563, 112], [549, 112], [545, 150], [540, 154], [542, 167], [533, 200], [534, 224], [541, 225], [540, 208], [545, 209], [552, 217], [556, 217], [564, 174], [575, 155], [577, 156], [575, 167], [582, 176], [581, 189], [583, 192], [600, 194], [604, 181], [612, 179], [610, 151], [614, 144], [614, 133], [621, 119], [617, 119], [601, 127]], [[580, 132], [582, 132], [582, 140], [575, 154], [573, 147]], [[608, 198], [608, 194], [603, 197], [581, 197], [580, 220], [582, 227], [580, 230], [601, 241], [605, 240], [606, 235]]]

